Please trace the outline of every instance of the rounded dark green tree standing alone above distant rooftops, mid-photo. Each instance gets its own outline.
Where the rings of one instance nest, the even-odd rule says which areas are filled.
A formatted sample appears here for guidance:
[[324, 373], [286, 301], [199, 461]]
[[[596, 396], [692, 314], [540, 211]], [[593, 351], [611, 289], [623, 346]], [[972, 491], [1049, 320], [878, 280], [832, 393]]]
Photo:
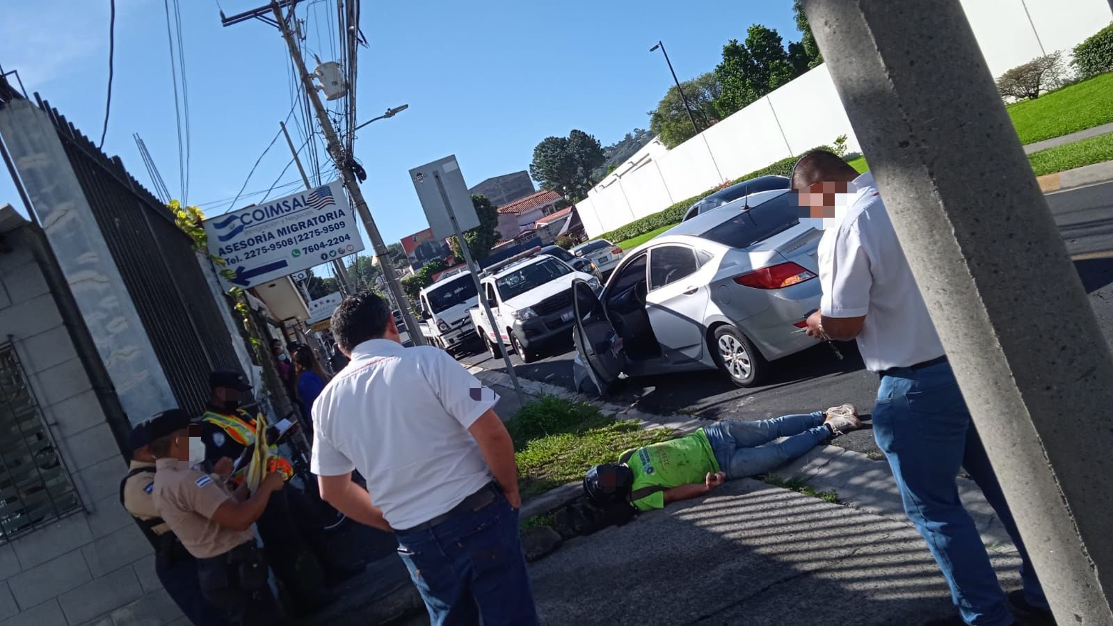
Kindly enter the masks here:
[[607, 160], [603, 146], [583, 130], [572, 130], [568, 137], [545, 137], [533, 148], [530, 176], [542, 189], [583, 198], [595, 185], [591, 173]]

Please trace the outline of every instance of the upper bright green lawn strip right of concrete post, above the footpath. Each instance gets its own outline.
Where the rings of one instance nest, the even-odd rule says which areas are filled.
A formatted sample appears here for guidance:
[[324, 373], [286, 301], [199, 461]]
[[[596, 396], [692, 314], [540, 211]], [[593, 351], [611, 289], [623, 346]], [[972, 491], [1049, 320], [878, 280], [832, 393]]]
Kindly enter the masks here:
[[1113, 72], [1006, 106], [1022, 144], [1113, 121]]

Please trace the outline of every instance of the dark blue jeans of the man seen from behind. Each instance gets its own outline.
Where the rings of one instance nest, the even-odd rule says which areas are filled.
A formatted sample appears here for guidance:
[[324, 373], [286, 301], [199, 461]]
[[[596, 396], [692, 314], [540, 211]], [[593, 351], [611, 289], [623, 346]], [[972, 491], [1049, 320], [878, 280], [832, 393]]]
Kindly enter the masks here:
[[477, 510], [395, 536], [432, 626], [538, 624], [518, 511], [501, 492]]

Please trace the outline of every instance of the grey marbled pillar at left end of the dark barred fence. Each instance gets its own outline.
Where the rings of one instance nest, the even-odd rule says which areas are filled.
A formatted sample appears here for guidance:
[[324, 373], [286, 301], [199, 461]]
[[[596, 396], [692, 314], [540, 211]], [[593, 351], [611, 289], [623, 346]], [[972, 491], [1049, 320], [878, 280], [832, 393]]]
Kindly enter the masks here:
[[30, 101], [11, 100], [0, 108], [0, 136], [128, 419], [177, 407], [53, 124]]

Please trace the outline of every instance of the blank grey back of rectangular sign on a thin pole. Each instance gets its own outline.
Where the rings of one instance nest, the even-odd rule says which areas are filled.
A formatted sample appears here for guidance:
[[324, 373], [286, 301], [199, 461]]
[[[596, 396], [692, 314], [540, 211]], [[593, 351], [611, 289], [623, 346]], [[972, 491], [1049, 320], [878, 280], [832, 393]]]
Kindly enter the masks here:
[[434, 237], [443, 239], [456, 234], [449, 219], [450, 207], [445, 205], [445, 199], [452, 205], [452, 213], [456, 217], [461, 233], [480, 225], [475, 206], [472, 204], [472, 194], [467, 190], [455, 155], [411, 169], [410, 178], [414, 182], [417, 199], [425, 211], [425, 219], [429, 221]]

